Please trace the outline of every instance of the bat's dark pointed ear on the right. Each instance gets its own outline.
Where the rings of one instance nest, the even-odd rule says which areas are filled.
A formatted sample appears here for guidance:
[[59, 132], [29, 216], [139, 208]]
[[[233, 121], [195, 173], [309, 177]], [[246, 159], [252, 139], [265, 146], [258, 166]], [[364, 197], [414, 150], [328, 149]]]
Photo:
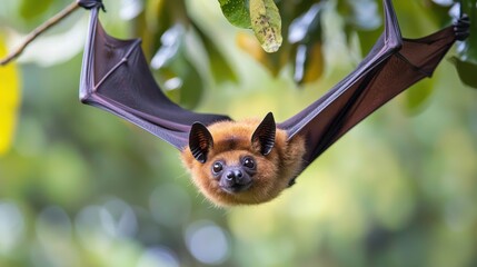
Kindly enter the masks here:
[[271, 152], [275, 145], [276, 131], [277, 126], [275, 125], [274, 115], [268, 112], [251, 136], [251, 144], [260, 148], [261, 155], [267, 156]]

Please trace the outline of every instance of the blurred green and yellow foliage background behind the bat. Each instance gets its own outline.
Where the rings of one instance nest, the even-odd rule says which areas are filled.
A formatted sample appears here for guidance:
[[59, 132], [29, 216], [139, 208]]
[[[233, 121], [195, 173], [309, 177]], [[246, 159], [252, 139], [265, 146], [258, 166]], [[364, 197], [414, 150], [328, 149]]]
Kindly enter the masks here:
[[[2, 0], [0, 47], [69, 2]], [[284, 11], [285, 29], [315, 2]], [[294, 80], [294, 46], [257, 50], [217, 1], [105, 3], [111, 34], [143, 38], [149, 59], [166, 55], [152, 66], [175, 101], [237, 119], [274, 111], [281, 121], [319, 98], [356, 67], [382, 21], [380, 1], [327, 1], [319, 38], [304, 42], [319, 63], [304, 63], [312, 73]], [[405, 37], [450, 22], [450, 7], [395, 6]], [[354, 128], [278, 199], [218, 209], [178, 151], [80, 105], [88, 17], [77, 11], [0, 72], [0, 266], [477, 266], [477, 91], [450, 60]]]

